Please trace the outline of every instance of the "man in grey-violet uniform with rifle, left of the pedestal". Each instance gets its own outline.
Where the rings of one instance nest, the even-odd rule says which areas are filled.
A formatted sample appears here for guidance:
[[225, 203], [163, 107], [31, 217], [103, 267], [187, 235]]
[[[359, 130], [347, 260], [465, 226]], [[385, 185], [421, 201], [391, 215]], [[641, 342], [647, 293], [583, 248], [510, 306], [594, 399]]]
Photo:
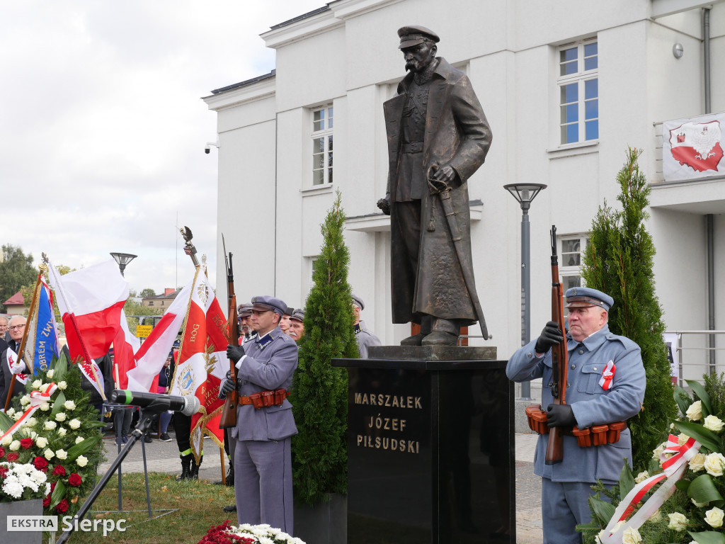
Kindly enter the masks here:
[[[297, 368], [297, 344], [279, 328], [287, 305], [276, 297], [252, 299], [252, 326], [257, 339], [227, 347], [237, 383], [227, 376], [220, 397], [236, 388], [239, 406], [234, 452], [234, 495], [240, 524], [270, 524], [292, 534], [291, 436], [297, 434], [286, 392]], [[269, 397], [265, 392], [277, 392]], [[257, 397], [262, 393], [262, 397]], [[262, 399], [268, 403], [262, 405]]]

